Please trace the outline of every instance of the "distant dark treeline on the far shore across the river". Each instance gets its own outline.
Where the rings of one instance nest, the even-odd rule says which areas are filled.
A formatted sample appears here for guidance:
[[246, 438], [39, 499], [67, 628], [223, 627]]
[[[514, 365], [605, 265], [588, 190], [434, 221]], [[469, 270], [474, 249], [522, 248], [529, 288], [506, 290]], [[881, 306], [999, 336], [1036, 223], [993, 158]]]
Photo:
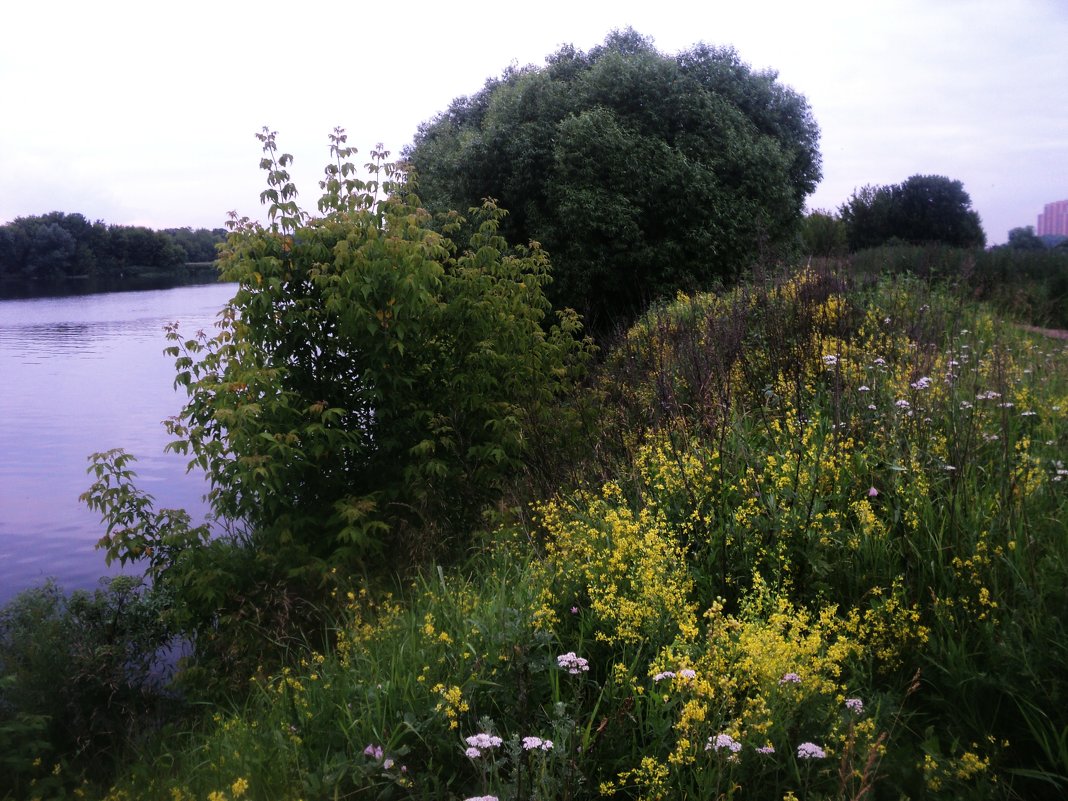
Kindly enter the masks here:
[[83, 215], [51, 211], [0, 226], [0, 280], [50, 281], [75, 277], [122, 278], [174, 271], [214, 262], [223, 229], [167, 229], [90, 222]]

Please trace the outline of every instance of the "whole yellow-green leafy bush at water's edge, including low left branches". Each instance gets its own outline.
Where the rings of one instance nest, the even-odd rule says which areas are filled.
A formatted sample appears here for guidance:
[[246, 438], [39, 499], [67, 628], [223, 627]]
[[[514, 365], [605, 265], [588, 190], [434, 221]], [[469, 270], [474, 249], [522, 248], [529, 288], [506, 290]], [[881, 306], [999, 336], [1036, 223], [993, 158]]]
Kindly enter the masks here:
[[461, 552], [533, 455], [569, 436], [561, 402], [590, 352], [574, 313], [549, 325], [548, 258], [509, 249], [492, 203], [460, 249], [398, 191], [388, 154], [358, 178], [335, 130], [312, 216], [292, 157], [260, 139], [270, 223], [232, 223], [219, 266], [238, 288], [216, 332], [168, 329], [188, 393], [170, 447], [206, 472], [216, 535], [157, 511], [123, 452], [94, 457], [83, 498], [109, 562], [145, 564], [202, 662], [239, 681], [314, 628], [332, 569]]

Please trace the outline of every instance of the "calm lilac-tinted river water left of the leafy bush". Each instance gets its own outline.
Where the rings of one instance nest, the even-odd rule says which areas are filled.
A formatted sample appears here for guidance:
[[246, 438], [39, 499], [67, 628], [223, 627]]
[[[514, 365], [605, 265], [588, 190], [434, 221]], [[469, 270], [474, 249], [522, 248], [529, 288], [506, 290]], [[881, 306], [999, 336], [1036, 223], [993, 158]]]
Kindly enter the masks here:
[[161, 422], [180, 409], [163, 326], [210, 330], [232, 284], [0, 300], [0, 603], [53, 577], [92, 588], [114, 572], [95, 550], [99, 516], [78, 501], [87, 457], [135, 454], [157, 506], [204, 516], [202, 476], [164, 454]]

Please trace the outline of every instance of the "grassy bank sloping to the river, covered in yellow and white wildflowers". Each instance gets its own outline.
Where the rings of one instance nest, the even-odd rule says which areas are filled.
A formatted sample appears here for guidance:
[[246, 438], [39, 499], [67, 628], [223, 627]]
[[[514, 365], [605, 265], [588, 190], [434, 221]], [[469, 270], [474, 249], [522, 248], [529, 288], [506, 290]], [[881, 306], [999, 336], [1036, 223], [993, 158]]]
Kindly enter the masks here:
[[316, 645], [106, 785], [23, 749], [18, 797], [1068, 791], [1064, 342], [803, 270], [650, 311], [586, 393], [581, 480], [464, 564], [325, 577]]

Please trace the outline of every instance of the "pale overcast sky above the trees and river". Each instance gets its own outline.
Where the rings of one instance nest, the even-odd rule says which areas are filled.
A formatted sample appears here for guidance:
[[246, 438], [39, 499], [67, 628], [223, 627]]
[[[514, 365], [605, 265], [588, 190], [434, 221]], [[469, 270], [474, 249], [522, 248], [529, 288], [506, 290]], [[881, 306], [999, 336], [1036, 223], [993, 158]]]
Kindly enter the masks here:
[[807, 97], [810, 208], [914, 174], [960, 179], [990, 244], [1068, 199], [1068, 0], [13, 2], [0, 37], [0, 223], [50, 210], [218, 227], [262, 217], [264, 125], [305, 207], [327, 137], [394, 154], [509, 63], [614, 28], [732, 45]]

